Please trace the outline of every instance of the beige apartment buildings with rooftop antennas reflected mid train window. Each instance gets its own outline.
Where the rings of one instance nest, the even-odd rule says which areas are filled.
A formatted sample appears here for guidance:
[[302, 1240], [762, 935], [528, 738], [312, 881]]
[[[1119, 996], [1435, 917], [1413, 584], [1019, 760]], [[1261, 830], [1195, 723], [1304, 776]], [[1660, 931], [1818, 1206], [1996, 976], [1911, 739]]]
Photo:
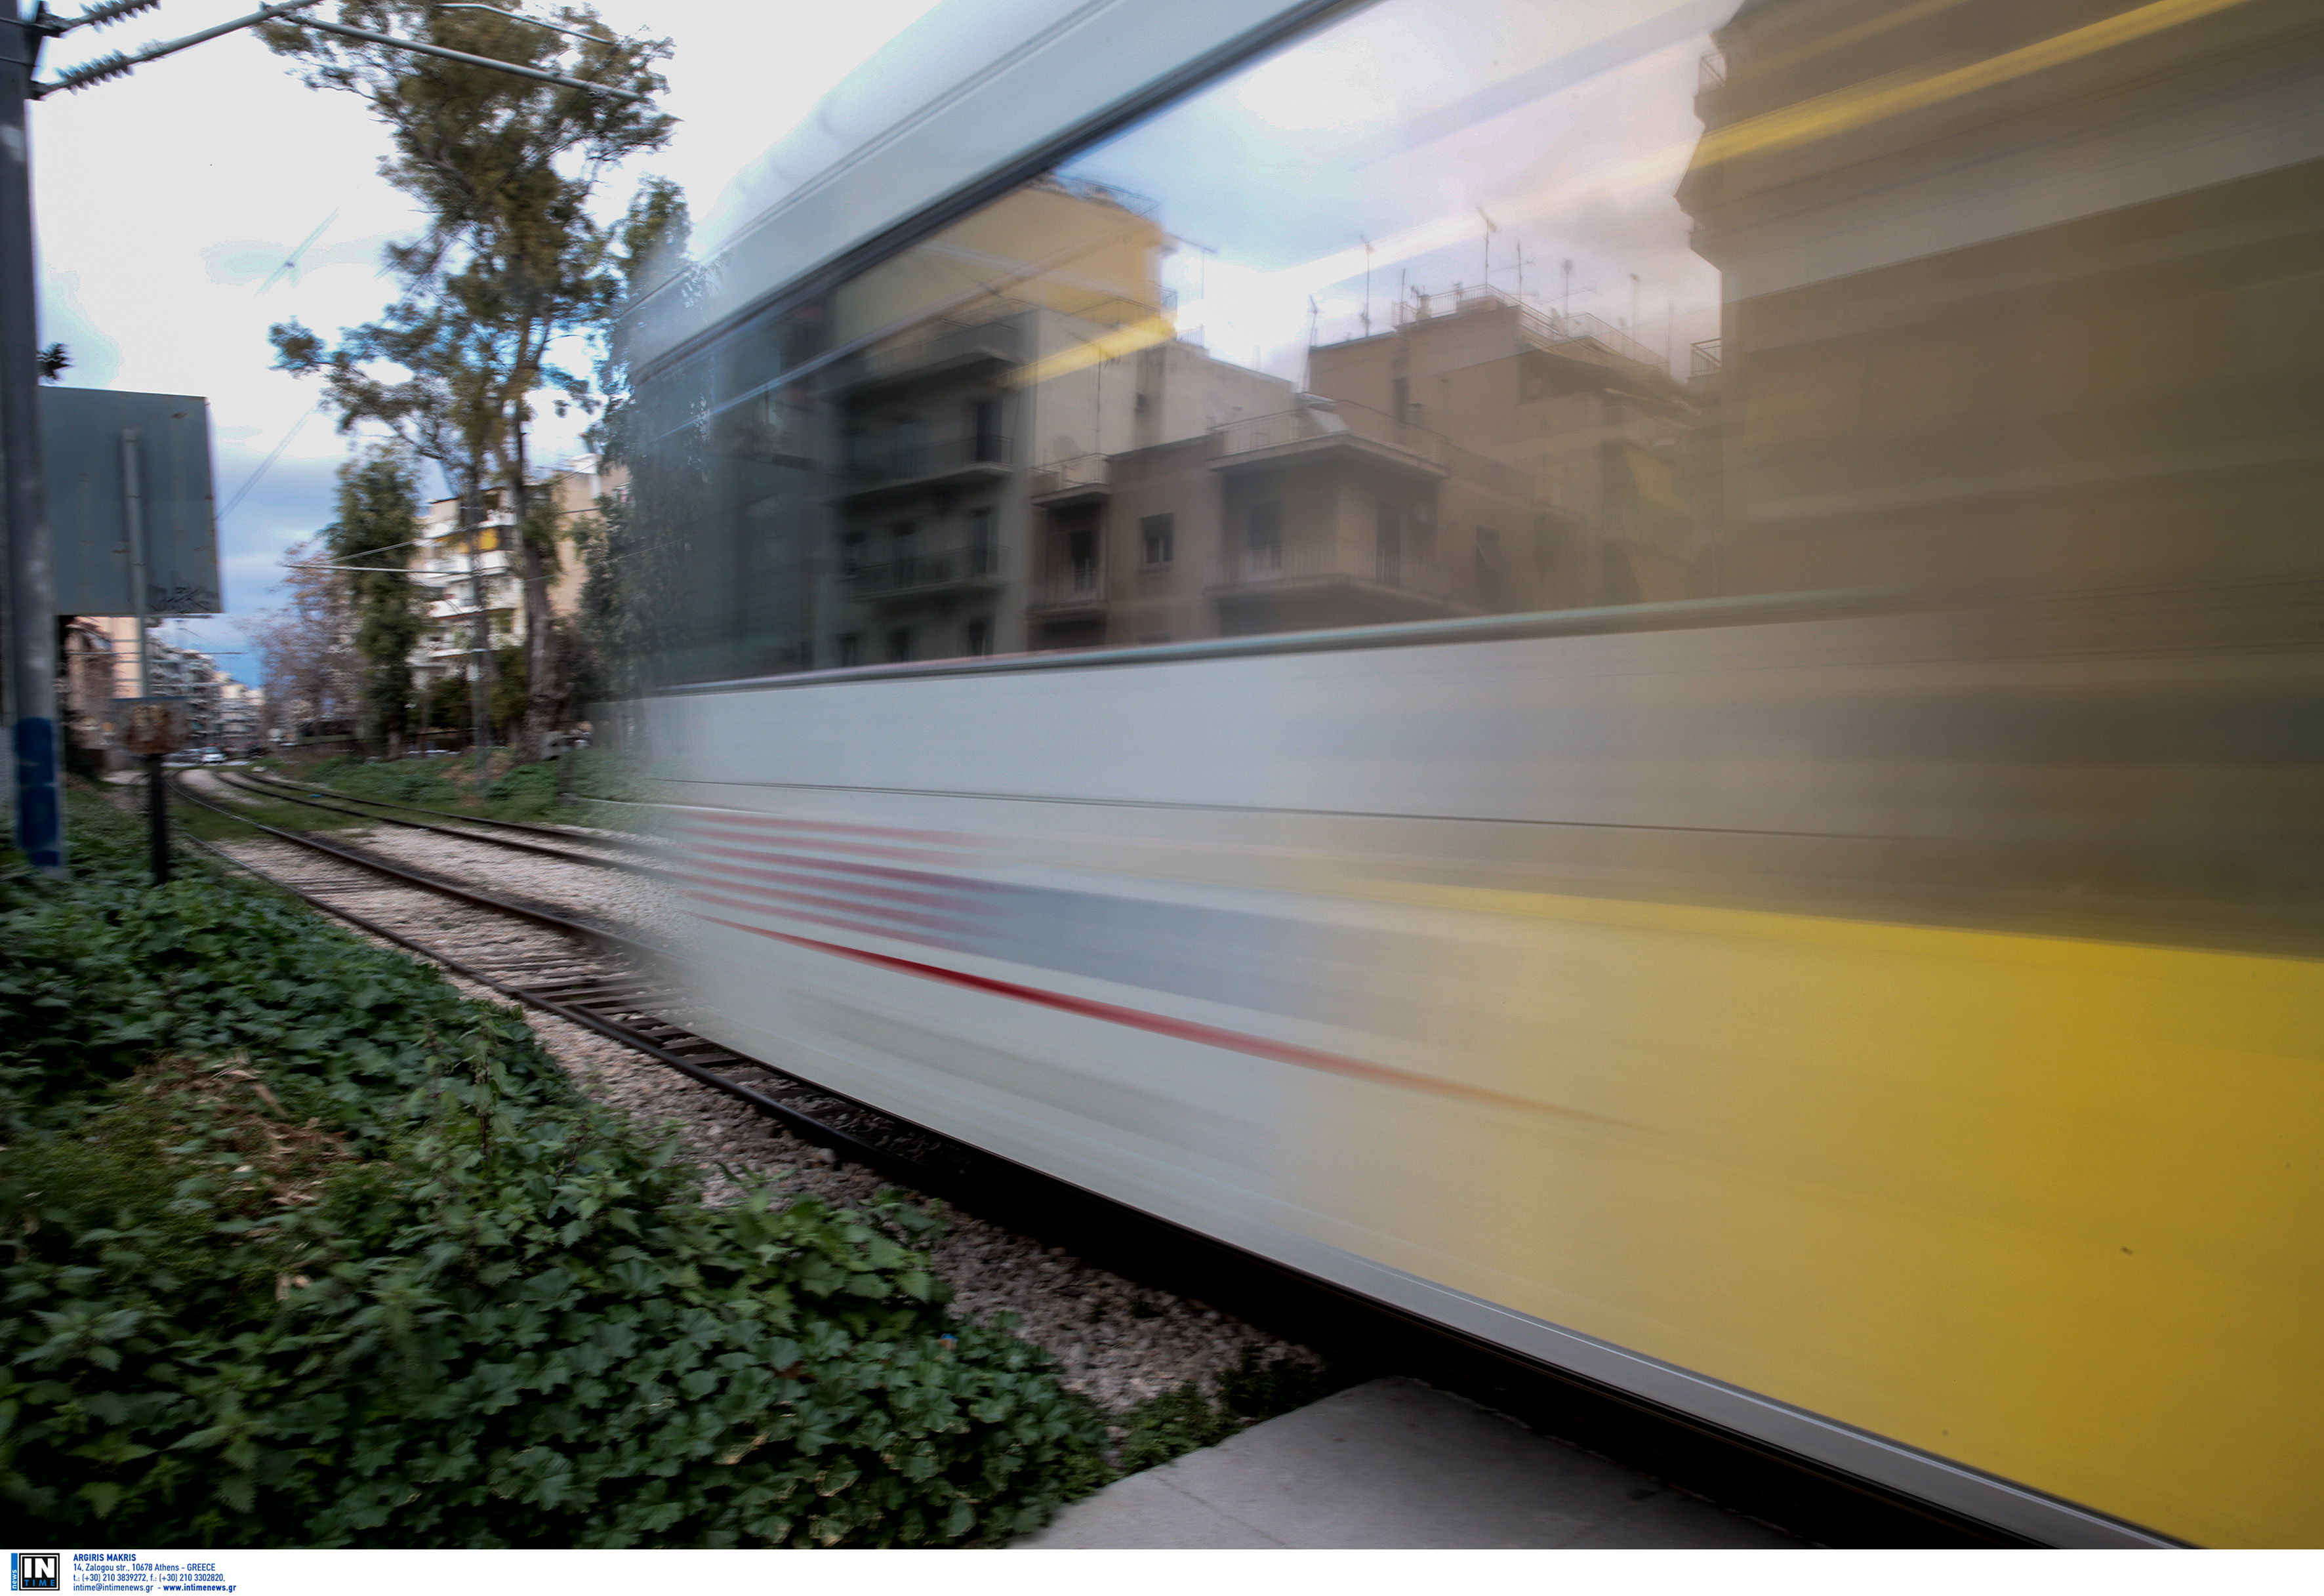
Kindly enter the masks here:
[[1708, 588], [1692, 502], [1708, 395], [1615, 328], [1415, 295], [1392, 330], [1308, 351], [1308, 372], [1311, 393], [1274, 383], [1264, 411], [1037, 472], [1027, 646]]

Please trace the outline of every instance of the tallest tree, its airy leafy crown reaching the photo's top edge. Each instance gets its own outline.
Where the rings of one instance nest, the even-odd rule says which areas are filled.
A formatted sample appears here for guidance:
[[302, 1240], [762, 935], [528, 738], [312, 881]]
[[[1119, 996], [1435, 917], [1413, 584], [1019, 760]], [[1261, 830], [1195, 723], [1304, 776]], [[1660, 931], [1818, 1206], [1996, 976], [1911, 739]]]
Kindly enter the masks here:
[[[616, 35], [586, 5], [560, 7], [555, 23], [428, 0], [339, 0], [337, 9], [367, 35], [274, 23], [260, 37], [307, 63], [311, 86], [365, 100], [388, 135], [381, 177], [425, 211], [428, 230], [388, 249], [402, 293], [379, 321], [337, 348], [297, 323], [277, 325], [272, 339], [279, 365], [323, 376], [342, 427], [386, 425], [442, 465], [465, 530], [481, 525], [488, 493], [509, 511], [525, 588], [518, 741], [539, 757], [565, 699], [567, 650], [548, 604], [560, 518], [532, 495], [535, 404], [544, 393], [562, 395], [558, 414], [597, 404], [588, 379], [560, 369], [551, 351], [602, 330], [623, 293], [625, 232], [597, 225], [590, 200], [611, 167], [669, 142], [676, 123], [653, 102], [667, 86], [655, 65], [669, 42]], [[381, 44], [381, 30], [458, 56], [414, 56]], [[486, 60], [562, 65], [576, 81], [627, 93], [544, 84]], [[648, 184], [648, 193], [660, 188]], [[486, 632], [479, 616], [479, 650], [490, 646]], [[500, 713], [497, 692], [486, 709]]]

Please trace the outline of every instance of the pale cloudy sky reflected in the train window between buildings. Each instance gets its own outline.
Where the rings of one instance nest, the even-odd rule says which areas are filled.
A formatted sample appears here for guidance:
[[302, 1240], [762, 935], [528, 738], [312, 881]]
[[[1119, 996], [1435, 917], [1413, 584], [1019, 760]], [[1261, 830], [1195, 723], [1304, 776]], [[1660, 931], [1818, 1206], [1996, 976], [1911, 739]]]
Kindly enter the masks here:
[[1318, 342], [1362, 332], [1367, 239], [1373, 328], [1399, 283], [1473, 288], [1490, 260], [1504, 293], [1685, 355], [1717, 335], [1720, 276], [1673, 193], [1701, 137], [1703, 26], [1727, 9], [1387, 0], [1067, 170], [1160, 202], [1188, 242], [1164, 267], [1181, 332], [1276, 376], [1301, 376], [1311, 314]]

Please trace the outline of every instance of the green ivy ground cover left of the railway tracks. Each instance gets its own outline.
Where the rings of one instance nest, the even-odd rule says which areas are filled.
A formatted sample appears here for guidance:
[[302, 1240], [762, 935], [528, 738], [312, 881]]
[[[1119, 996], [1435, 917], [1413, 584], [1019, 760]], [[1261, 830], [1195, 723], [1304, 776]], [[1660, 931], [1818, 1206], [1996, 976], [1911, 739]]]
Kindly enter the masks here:
[[507, 1008], [260, 885], [0, 878], [0, 1498], [74, 1545], [992, 1545], [1109, 1478], [937, 1220], [704, 1208]]

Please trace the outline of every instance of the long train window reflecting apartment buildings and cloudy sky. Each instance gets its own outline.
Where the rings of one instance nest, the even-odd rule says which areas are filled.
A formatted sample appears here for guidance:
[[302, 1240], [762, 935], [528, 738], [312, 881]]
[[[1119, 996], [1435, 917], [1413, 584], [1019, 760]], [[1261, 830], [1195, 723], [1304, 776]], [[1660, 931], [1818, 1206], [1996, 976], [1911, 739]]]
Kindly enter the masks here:
[[2296, 9], [1380, 0], [639, 372], [648, 674], [2305, 571]]

